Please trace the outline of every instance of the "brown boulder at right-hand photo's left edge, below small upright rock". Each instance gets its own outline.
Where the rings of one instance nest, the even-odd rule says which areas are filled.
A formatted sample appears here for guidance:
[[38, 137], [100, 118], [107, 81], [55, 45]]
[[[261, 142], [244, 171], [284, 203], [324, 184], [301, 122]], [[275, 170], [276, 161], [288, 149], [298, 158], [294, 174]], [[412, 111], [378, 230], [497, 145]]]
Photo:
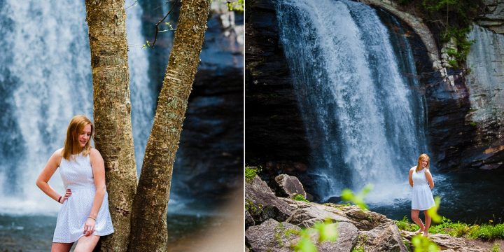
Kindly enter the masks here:
[[288, 203], [275, 197], [258, 176], [251, 183], [245, 184], [245, 208], [256, 223], [269, 218], [285, 221], [292, 214]]

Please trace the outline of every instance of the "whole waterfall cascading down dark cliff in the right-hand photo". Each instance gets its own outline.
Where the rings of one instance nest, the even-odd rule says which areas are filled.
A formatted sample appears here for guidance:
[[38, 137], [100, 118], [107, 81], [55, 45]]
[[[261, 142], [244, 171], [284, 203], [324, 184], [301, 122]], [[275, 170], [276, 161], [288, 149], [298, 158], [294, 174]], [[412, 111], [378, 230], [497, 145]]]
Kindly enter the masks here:
[[408, 170], [426, 152], [423, 99], [412, 91], [419, 83], [403, 72], [416, 74], [407, 39], [399, 62], [376, 10], [362, 3], [281, 0], [276, 8], [315, 193], [325, 201], [372, 183], [369, 202], [407, 197]]

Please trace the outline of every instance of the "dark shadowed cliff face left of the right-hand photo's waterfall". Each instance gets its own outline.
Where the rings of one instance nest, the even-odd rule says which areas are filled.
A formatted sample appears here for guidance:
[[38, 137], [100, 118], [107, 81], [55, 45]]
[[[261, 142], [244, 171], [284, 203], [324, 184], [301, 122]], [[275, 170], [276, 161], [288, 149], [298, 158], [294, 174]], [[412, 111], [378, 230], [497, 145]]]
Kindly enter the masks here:
[[250, 1], [246, 8], [246, 162], [305, 163], [309, 144], [279, 44], [274, 3]]

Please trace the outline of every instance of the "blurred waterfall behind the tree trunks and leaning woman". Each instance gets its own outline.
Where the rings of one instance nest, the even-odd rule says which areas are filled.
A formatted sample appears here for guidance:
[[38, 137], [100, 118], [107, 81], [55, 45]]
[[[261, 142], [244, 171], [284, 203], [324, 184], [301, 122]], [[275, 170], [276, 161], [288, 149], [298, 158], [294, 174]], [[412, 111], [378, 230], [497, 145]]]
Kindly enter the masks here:
[[[126, 3], [130, 6], [131, 3]], [[141, 8], [127, 10], [132, 125], [137, 166], [151, 131]], [[92, 118], [90, 48], [82, 1], [0, 1], [0, 214], [55, 214], [59, 205], [35, 186], [76, 114]], [[50, 180], [63, 192], [58, 172]]]

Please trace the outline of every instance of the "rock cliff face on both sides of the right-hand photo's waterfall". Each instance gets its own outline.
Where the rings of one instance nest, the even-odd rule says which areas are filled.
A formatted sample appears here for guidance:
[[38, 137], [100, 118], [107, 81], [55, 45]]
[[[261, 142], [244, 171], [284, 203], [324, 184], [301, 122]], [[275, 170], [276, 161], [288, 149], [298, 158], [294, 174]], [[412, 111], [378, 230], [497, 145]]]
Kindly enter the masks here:
[[[504, 81], [501, 78], [504, 45], [493, 34], [491, 44], [494, 52], [477, 52], [478, 42], [468, 56], [466, 71], [447, 69], [442, 66], [440, 48], [428, 33], [422, 20], [411, 13], [402, 13], [393, 1], [366, 0], [398, 17], [409, 29], [416, 70], [423, 85], [428, 108], [428, 132], [426, 132], [433, 165], [438, 169], [456, 170], [465, 168], [502, 168], [504, 146], [502, 109]], [[309, 159], [309, 145], [303, 130], [300, 112], [293, 95], [290, 73], [278, 43], [278, 27], [274, 3], [269, 0], [248, 3], [246, 20], [246, 162], [267, 164], [272, 173], [287, 171], [299, 176], [309, 191], [310, 184], [304, 179]], [[500, 32], [503, 20], [503, 3], [487, 1], [486, 15], [479, 17], [479, 24]], [[483, 22], [484, 21], [484, 22]], [[490, 22], [491, 21], [491, 22]], [[472, 33], [475, 33], [473, 30]], [[479, 35], [477, 35], [479, 36]], [[489, 35], [490, 36], [490, 35]], [[434, 50], [434, 52], [433, 52]], [[472, 60], [474, 54], [491, 55], [492, 66], [482, 66], [482, 60]], [[479, 62], [479, 69], [472, 69], [471, 62]], [[482, 78], [482, 73], [490, 78]], [[500, 69], [500, 71], [499, 71]], [[484, 73], [486, 76], [488, 74]], [[478, 78], [476, 76], [479, 76]], [[500, 76], [500, 77], [498, 77]], [[493, 78], [493, 79], [492, 79]], [[491, 109], [482, 109], [491, 104]], [[486, 118], [478, 119], [478, 118]], [[500, 162], [500, 163], [499, 163]], [[302, 167], [302, 168], [294, 168]], [[270, 171], [271, 172], [271, 171]], [[274, 175], [276, 175], [274, 174]], [[271, 177], [271, 176], [270, 176]]]

